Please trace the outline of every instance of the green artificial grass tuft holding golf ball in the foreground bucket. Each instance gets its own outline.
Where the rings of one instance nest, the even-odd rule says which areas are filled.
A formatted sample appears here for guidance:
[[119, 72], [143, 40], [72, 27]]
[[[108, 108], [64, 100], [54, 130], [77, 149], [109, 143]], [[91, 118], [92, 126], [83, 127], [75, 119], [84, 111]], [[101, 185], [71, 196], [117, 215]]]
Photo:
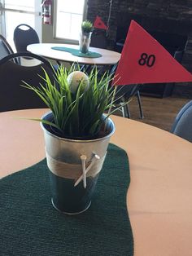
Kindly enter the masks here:
[[[35, 119], [46, 123], [63, 137], [93, 137], [104, 127], [106, 118], [115, 110], [116, 89], [111, 87], [111, 75], [104, 73], [98, 78], [98, 69], [93, 68], [89, 75], [82, 73], [80, 68], [69, 70], [60, 65], [54, 70], [54, 82], [44, 70], [41, 84], [37, 87], [24, 82], [24, 87], [33, 90], [50, 108], [53, 121]], [[116, 86], [115, 86], [116, 88]], [[103, 118], [103, 113], [107, 115]]]

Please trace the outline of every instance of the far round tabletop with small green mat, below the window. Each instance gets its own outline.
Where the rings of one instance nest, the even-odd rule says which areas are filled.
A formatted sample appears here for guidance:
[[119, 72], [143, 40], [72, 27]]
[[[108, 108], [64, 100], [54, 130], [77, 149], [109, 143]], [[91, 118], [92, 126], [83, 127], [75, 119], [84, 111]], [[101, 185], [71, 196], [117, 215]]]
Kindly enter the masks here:
[[84, 58], [72, 55], [67, 51], [57, 51], [51, 49], [51, 47], [69, 47], [74, 49], [79, 49], [77, 45], [69, 44], [55, 44], [55, 43], [35, 43], [27, 47], [28, 51], [34, 54], [41, 55], [43, 57], [49, 58], [51, 60], [66, 61], [69, 63], [78, 62], [79, 64], [91, 64], [91, 65], [111, 65], [116, 64], [120, 60], [120, 53], [116, 51], [109, 51], [106, 49], [89, 47], [89, 51], [98, 52], [102, 57], [98, 58]]

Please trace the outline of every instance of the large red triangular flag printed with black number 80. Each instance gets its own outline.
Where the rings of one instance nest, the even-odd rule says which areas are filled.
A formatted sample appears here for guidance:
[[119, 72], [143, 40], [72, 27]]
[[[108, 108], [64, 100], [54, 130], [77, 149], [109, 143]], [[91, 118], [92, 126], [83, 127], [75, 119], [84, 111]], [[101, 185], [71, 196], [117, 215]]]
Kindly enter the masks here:
[[192, 82], [192, 74], [132, 20], [113, 85], [157, 82]]

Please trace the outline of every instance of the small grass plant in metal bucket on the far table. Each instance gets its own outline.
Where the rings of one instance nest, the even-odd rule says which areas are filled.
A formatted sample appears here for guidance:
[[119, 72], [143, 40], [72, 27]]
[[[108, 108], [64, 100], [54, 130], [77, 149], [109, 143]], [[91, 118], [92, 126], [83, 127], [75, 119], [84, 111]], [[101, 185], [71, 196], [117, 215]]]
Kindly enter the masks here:
[[88, 53], [89, 52], [89, 44], [90, 44], [90, 38], [91, 33], [93, 30], [93, 24], [89, 20], [85, 20], [81, 24], [81, 33], [80, 33], [80, 51], [82, 53]]

